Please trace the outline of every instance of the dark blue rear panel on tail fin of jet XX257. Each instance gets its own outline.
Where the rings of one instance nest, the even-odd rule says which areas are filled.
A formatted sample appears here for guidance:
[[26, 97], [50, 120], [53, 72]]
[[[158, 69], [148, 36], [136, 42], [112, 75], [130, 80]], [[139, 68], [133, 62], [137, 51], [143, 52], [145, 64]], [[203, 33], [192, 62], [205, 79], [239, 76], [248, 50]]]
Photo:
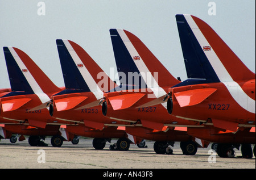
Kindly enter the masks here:
[[[115, 56], [115, 64], [117, 65], [117, 71], [119, 75], [119, 80], [122, 85], [127, 85], [129, 83], [129, 74], [139, 74], [139, 70], [134, 63], [133, 58], [131, 57], [128, 49], [125, 47], [121, 37], [119, 36], [116, 29], [110, 29], [110, 36], [112, 40], [112, 46]], [[129, 73], [130, 72], [130, 73]], [[125, 74], [126, 78], [122, 75]], [[132, 77], [130, 85], [137, 85], [138, 87], [147, 87], [144, 79], [139, 77], [139, 79], [135, 80]]]

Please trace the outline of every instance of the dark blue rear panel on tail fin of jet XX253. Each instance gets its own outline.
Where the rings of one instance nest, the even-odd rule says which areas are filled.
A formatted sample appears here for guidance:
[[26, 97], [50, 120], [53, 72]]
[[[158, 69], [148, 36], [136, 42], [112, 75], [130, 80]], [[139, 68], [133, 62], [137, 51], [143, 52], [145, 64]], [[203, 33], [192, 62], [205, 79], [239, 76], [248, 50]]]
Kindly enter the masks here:
[[57, 39], [56, 44], [66, 89], [80, 89], [89, 92], [90, 89], [79, 69], [77, 69], [77, 65], [69, 54], [67, 47], [65, 47], [63, 40]]

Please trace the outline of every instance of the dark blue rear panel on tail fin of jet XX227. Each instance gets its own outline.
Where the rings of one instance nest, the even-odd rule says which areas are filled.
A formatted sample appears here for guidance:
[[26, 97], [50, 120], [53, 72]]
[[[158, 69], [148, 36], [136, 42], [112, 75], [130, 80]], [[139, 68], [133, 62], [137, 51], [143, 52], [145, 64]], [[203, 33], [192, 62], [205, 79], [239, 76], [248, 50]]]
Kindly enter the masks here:
[[176, 22], [188, 78], [220, 82], [184, 15], [176, 15]]

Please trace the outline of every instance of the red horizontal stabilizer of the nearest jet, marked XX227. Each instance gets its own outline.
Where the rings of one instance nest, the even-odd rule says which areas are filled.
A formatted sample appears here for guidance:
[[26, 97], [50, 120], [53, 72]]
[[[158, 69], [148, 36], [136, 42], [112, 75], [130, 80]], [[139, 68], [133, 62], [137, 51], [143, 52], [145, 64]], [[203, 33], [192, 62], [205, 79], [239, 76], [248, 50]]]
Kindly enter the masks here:
[[203, 102], [211, 94], [213, 94], [217, 89], [214, 88], [204, 88], [204, 89], [193, 89], [188, 91], [182, 91], [179, 93], [174, 93], [177, 102], [180, 107], [193, 106]]

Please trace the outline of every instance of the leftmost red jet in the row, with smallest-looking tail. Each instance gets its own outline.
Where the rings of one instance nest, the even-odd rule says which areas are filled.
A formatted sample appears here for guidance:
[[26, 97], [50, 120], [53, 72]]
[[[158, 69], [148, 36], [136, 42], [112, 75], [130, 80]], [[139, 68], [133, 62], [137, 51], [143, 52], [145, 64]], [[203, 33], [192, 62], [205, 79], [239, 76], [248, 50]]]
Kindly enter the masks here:
[[[52, 145], [65, 134], [60, 124], [72, 124], [49, 116], [48, 109], [32, 111], [32, 107], [49, 101], [52, 94], [63, 89], [56, 87], [42, 70], [23, 51], [3, 47], [11, 90], [1, 93], [0, 118], [2, 134], [29, 135], [30, 145], [46, 145], [41, 141], [46, 135], [52, 137]], [[16, 123], [15, 123], [16, 122]], [[24, 140], [21, 136], [20, 140]]]

